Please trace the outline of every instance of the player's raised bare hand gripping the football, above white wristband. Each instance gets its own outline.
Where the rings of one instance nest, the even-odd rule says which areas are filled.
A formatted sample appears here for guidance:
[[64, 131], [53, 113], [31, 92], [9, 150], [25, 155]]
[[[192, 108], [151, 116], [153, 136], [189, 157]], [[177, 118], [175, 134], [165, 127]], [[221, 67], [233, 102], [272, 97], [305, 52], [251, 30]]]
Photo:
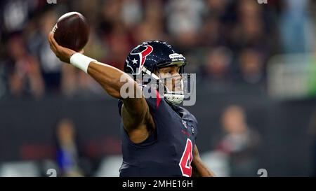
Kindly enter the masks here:
[[[70, 63], [70, 57], [74, 55], [76, 51], [58, 45], [52, 32], [48, 34], [48, 42], [51, 46], [51, 50], [55, 53], [56, 57], [60, 59], [60, 61]], [[81, 52], [83, 51], [84, 50], [81, 50]]]

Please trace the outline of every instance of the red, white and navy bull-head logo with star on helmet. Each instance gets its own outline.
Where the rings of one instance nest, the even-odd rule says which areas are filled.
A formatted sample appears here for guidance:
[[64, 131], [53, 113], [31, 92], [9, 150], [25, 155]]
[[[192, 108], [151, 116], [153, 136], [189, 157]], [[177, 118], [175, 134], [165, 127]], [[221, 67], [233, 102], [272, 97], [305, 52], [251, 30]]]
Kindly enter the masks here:
[[[132, 74], [140, 74], [146, 61], [146, 57], [150, 55], [152, 50], [154, 50], [151, 45], [144, 45], [143, 47], [145, 48], [145, 50], [138, 53], [133, 53], [132, 51], [131, 55], [128, 58], [129, 60], [126, 59], [126, 66], [131, 68], [131, 70], [133, 71]], [[136, 71], [134, 71], [134, 69]]]

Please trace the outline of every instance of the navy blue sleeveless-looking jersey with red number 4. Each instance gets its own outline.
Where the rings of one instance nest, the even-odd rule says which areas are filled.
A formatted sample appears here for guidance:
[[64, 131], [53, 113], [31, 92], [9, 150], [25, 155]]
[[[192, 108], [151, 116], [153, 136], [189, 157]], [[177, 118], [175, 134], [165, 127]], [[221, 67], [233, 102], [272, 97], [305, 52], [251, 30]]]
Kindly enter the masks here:
[[[121, 121], [120, 176], [191, 176], [197, 120], [185, 108], [169, 105], [153, 91], [157, 98], [146, 101], [156, 128], [145, 141], [133, 143]], [[121, 106], [119, 101], [120, 114]]]

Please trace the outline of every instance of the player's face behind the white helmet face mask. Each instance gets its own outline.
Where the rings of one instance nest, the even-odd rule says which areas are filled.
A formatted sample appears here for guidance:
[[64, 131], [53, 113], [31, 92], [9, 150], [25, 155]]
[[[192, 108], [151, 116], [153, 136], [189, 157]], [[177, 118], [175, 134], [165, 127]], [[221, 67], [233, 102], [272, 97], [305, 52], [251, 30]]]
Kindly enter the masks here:
[[179, 73], [179, 66], [166, 66], [159, 69], [155, 74], [164, 81], [164, 85], [168, 87], [171, 92], [179, 92], [182, 90], [181, 79], [182, 76]]

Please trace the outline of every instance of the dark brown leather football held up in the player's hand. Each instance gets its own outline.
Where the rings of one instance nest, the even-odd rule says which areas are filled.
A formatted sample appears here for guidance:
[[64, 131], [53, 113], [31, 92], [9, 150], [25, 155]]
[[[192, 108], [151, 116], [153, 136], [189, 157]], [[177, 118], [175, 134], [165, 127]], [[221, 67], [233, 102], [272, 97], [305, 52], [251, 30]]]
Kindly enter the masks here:
[[90, 29], [84, 15], [70, 12], [57, 20], [52, 31], [59, 45], [79, 52], [88, 42]]

